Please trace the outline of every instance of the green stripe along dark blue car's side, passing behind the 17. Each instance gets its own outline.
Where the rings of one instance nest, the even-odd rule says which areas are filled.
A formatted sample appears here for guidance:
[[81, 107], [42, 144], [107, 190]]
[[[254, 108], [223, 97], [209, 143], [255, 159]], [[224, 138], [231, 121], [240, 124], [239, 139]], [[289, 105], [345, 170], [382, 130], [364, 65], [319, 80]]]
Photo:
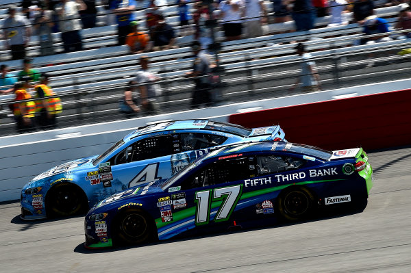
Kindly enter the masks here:
[[[242, 194], [240, 200], [259, 196], [262, 194], [268, 194], [270, 192], [276, 192], [277, 190], [283, 190], [286, 187], [289, 187], [290, 185], [307, 185], [307, 184], [314, 184], [314, 183], [325, 183], [329, 181], [340, 181], [340, 180], [346, 180], [346, 179], [329, 179], [329, 180], [316, 180], [316, 181], [303, 181], [303, 182], [297, 182], [297, 183], [292, 183], [292, 184], [286, 184], [286, 185], [280, 185], [277, 187], [267, 187], [266, 189], [262, 190], [256, 190], [253, 192], [245, 192]], [[211, 208], [214, 209], [216, 207], [221, 206], [223, 203], [223, 200], [220, 201], [214, 201], [211, 203]], [[190, 207], [188, 209], [184, 209], [181, 211], [177, 211], [173, 213], [173, 222], [162, 222], [161, 218], [155, 219], [155, 225], [157, 226], [157, 229], [162, 228], [163, 226], [167, 226], [169, 224], [174, 224], [174, 222], [177, 222], [179, 220], [182, 220], [184, 218], [192, 217], [195, 216], [195, 207]]]

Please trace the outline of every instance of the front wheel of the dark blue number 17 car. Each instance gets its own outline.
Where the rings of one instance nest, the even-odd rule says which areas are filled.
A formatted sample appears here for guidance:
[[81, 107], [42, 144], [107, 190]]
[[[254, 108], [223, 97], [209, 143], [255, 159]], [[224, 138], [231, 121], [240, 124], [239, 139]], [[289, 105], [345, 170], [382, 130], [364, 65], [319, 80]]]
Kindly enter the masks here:
[[153, 220], [141, 209], [126, 209], [113, 221], [115, 245], [134, 245], [149, 242], [153, 236]]

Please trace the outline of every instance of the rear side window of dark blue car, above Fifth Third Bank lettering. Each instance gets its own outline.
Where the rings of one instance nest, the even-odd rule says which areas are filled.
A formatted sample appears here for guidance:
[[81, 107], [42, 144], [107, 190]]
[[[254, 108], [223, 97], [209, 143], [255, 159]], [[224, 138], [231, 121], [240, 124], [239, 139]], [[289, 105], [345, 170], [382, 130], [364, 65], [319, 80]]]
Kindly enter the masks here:
[[256, 160], [257, 175], [285, 172], [301, 168], [306, 161], [295, 157], [282, 157], [274, 155], [258, 156]]

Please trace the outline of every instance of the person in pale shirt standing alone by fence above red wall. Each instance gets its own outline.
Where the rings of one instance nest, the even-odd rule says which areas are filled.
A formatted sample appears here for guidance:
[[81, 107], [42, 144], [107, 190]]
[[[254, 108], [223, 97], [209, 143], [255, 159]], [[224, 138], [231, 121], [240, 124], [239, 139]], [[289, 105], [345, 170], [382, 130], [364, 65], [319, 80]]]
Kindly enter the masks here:
[[312, 60], [312, 55], [306, 51], [306, 48], [301, 42], [297, 44], [295, 49], [301, 57], [301, 76], [297, 78], [297, 81], [294, 86], [290, 88], [290, 91], [294, 90], [299, 83], [301, 83], [303, 92], [321, 90], [320, 77], [317, 73], [315, 62]]

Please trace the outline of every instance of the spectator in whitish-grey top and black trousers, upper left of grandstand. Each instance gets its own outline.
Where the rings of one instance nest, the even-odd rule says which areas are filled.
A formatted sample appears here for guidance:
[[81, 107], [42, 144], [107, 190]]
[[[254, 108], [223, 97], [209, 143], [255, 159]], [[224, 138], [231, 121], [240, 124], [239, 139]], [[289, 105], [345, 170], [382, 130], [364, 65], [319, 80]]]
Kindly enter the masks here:
[[80, 36], [82, 25], [79, 19], [79, 11], [86, 10], [86, 8], [83, 0], [60, 0], [60, 3], [55, 5], [55, 13], [58, 15], [59, 29], [64, 44], [64, 53], [83, 49], [82, 37]]

